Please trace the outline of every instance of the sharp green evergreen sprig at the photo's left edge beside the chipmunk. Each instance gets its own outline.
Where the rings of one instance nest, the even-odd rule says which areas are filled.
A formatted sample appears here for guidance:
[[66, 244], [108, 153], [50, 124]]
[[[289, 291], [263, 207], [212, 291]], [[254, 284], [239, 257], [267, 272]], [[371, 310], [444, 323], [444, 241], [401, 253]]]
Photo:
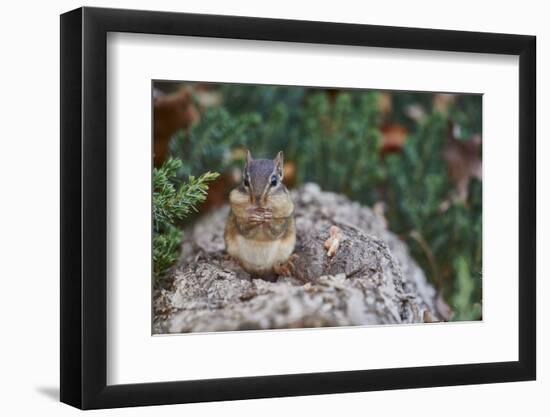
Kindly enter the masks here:
[[182, 232], [177, 223], [206, 199], [208, 182], [219, 174], [206, 172], [198, 178], [189, 176], [178, 181], [178, 171], [183, 168], [180, 159], [169, 159], [159, 169], [153, 170], [153, 273], [156, 280], [178, 258]]

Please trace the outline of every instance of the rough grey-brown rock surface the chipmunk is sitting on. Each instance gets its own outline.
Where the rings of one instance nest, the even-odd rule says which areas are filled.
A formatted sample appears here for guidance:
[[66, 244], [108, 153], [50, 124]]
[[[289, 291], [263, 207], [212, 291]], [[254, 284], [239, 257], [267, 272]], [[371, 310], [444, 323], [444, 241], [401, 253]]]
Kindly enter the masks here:
[[[252, 279], [224, 252], [228, 208], [186, 231], [170, 285], [155, 290], [155, 333], [419, 323], [440, 320], [436, 291], [369, 208], [306, 184], [293, 192], [295, 277]], [[329, 228], [344, 236], [336, 254]], [[191, 243], [189, 243], [191, 242]]]

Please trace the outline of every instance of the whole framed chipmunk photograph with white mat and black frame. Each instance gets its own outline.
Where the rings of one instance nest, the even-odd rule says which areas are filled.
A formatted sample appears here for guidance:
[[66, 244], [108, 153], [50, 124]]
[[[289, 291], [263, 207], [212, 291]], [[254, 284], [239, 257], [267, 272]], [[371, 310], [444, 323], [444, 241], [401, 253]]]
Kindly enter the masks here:
[[61, 16], [61, 401], [533, 380], [535, 37]]

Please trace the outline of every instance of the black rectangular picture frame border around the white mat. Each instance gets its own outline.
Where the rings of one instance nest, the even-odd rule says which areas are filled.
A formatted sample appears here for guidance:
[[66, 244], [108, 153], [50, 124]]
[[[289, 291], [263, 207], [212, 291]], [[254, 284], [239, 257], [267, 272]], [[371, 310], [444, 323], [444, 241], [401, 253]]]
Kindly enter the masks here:
[[[519, 360], [107, 385], [108, 32], [519, 56]], [[62, 402], [93, 409], [535, 379], [534, 36], [85, 7], [61, 15], [60, 57]]]

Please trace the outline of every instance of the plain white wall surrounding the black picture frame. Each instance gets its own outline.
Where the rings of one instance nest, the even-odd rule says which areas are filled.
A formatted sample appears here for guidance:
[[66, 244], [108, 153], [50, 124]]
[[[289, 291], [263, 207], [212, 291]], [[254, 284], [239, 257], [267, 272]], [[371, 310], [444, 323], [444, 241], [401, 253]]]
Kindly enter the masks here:
[[[550, 148], [541, 138], [548, 112], [550, 26], [544, 2], [461, 0], [315, 1], [93, 1], [86, 5], [217, 14], [535, 34], [538, 36], [539, 213], [550, 211], [542, 194]], [[59, 276], [59, 17], [77, 1], [4, 2], [0, 30], [0, 409], [4, 415], [73, 415], [57, 399]], [[7, 94], [6, 94], [7, 92]], [[6, 129], [7, 127], [7, 129]], [[543, 130], [544, 127], [544, 130]], [[22, 164], [21, 161], [26, 161]], [[550, 249], [550, 221], [539, 216], [539, 259]], [[543, 237], [543, 231], [546, 235]], [[541, 259], [541, 264], [544, 260]], [[539, 380], [484, 386], [388, 391], [101, 411], [100, 415], [548, 415], [550, 293], [548, 264], [539, 265]]]

